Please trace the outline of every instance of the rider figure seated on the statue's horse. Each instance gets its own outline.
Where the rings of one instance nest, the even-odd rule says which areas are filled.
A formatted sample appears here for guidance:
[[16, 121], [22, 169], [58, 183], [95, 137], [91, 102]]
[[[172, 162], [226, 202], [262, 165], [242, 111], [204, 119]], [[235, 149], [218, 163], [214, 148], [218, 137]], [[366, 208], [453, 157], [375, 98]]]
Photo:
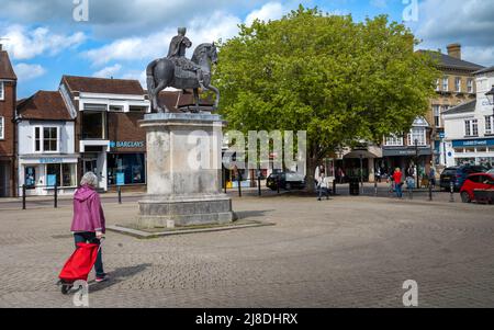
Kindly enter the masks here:
[[186, 36], [186, 34], [187, 29], [179, 27], [178, 35], [171, 39], [167, 58], [173, 61], [173, 64], [182, 70], [195, 72], [198, 75], [200, 86], [204, 88], [204, 79], [201, 68], [186, 57], [187, 48], [192, 47], [192, 42]]

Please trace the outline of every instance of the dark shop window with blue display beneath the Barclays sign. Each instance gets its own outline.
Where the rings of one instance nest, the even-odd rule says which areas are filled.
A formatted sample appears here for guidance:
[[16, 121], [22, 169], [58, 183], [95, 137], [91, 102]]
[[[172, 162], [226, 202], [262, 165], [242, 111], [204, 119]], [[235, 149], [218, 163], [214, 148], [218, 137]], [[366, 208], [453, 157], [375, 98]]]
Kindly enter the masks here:
[[110, 153], [108, 156], [108, 184], [145, 184], [144, 153]]

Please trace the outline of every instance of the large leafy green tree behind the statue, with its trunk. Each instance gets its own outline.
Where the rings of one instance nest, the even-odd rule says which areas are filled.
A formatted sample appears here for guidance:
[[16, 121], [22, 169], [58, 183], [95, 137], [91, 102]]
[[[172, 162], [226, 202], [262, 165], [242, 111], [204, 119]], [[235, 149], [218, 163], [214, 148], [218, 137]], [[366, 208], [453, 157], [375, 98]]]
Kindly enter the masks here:
[[[307, 174], [339, 146], [409, 129], [434, 95], [435, 62], [404, 25], [302, 5], [221, 43], [215, 83], [231, 128], [306, 130]], [[312, 185], [310, 185], [312, 187]]]

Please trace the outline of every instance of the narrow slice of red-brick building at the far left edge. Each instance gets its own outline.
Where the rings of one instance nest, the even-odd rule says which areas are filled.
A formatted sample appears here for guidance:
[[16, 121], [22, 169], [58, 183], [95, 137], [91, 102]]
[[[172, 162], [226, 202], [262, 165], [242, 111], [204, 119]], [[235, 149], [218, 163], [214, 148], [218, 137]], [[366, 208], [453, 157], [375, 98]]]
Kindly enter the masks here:
[[18, 78], [0, 44], [0, 197], [15, 195], [15, 100]]

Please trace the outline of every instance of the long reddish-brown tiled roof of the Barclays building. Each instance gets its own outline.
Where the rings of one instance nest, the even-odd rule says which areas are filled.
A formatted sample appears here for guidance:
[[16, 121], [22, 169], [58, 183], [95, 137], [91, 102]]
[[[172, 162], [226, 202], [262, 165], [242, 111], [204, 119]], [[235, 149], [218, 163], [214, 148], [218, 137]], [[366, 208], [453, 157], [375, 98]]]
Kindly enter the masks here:
[[64, 76], [61, 81], [67, 84], [71, 92], [144, 95], [143, 87], [138, 80]]

